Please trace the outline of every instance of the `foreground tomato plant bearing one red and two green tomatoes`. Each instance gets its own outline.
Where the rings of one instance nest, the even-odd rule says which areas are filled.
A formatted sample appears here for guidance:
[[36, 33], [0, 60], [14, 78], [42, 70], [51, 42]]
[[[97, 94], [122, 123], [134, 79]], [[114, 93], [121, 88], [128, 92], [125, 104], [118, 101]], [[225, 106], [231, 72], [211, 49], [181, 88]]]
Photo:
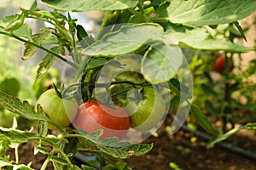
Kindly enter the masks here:
[[[49, 8], [40, 8], [44, 5]], [[233, 10], [236, 8], [244, 10]], [[255, 1], [240, 0], [109, 0], [104, 3], [102, 0], [75, 3], [68, 0], [35, 0], [30, 8], [21, 7], [20, 13], [5, 16], [0, 20], [0, 34], [25, 43], [21, 59], [43, 57], [38, 64], [35, 82], [45, 82], [44, 76], [53, 67], [66, 73], [60, 75], [67, 77], [62, 76], [61, 82], [56, 85], [61, 89], [61, 95], [50, 89], [38, 101], [38, 94], [42, 89], [46, 90], [45, 87], [33, 87], [40, 93], [35, 94], [36, 97], [31, 96], [28, 99], [30, 102], [22, 102], [19, 96], [0, 91], [0, 104], [4, 110], [35, 122], [34, 129], [37, 131], [20, 131], [15, 126], [1, 127], [0, 167], [30, 169], [30, 164], [20, 165], [18, 147], [33, 141], [35, 153], [46, 156], [40, 167], [42, 170], [48, 167], [49, 161], [55, 169], [129, 169], [122, 159], [142, 156], [153, 145], [131, 144], [129, 138], [119, 141], [111, 137], [122, 139], [130, 130], [139, 134], [144, 133], [141, 131], [153, 133], [152, 129], [168, 111], [166, 105], [172, 105], [172, 99], [180, 105], [180, 110], [177, 115], [170, 114], [176, 121], [176, 130], [181, 127], [189, 114], [193, 91], [187, 63], [189, 58], [183, 55], [183, 51], [193, 49], [233, 54], [252, 50], [231, 38], [219, 38], [212, 32], [218, 26], [229, 24], [237, 35], [244, 37], [238, 20], [246, 18], [255, 9]], [[103, 14], [102, 20], [96, 22], [100, 24], [96, 28], [100, 29], [89, 31], [87, 26], [90, 22], [79, 22], [81, 19], [77, 16], [84, 14], [81, 12], [95, 10]], [[44, 26], [38, 25], [37, 30], [32, 20], [44, 22]], [[44, 51], [44, 56], [36, 53], [39, 50]], [[195, 63], [199, 60], [196, 55], [193, 59]], [[197, 66], [195, 64], [190, 68], [193, 70]], [[122, 74], [124, 72], [128, 74]], [[119, 79], [119, 76], [122, 78]], [[228, 75], [225, 76], [228, 78]], [[157, 88], [148, 88], [151, 85]], [[116, 87], [113, 89], [113, 86]], [[130, 113], [127, 115], [125, 108], [121, 107], [125, 107], [123, 97], [129, 99], [134, 89], [143, 89], [143, 98], [131, 101], [126, 108]], [[112, 103], [120, 106], [110, 105]], [[207, 116], [195, 105], [192, 105], [190, 112], [201, 127], [212, 133]], [[73, 126], [69, 126], [70, 122]], [[55, 128], [58, 135], [48, 131], [48, 127]], [[13, 144], [15, 161], [3, 156]], [[72, 160], [77, 153], [97, 156], [96, 165], [86, 159], [83, 165], [74, 165]]]

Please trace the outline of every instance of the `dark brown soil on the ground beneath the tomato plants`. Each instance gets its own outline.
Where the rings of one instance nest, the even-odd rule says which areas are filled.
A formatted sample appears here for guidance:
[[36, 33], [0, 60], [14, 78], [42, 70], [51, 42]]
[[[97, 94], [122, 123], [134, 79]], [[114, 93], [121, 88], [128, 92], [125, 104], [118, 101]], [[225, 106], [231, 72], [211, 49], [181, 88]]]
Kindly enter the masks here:
[[[241, 156], [237, 153], [225, 150], [217, 145], [207, 149], [207, 139], [195, 135], [187, 130], [180, 129], [177, 133], [166, 133], [165, 124], [160, 127], [158, 137], [151, 136], [143, 141], [145, 144], [154, 144], [154, 148], [144, 156], [131, 157], [125, 160], [134, 170], [167, 170], [175, 169], [170, 163], [183, 170], [256, 170], [256, 160]], [[191, 140], [196, 140], [191, 142]], [[256, 153], [256, 137], [253, 131], [242, 131], [236, 136], [230, 137], [228, 142]], [[20, 162], [27, 164], [32, 161], [32, 168], [40, 169], [45, 156], [33, 155], [33, 144], [20, 146]], [[8, 155], [14, 157], [14, 150], [8, 150]], [[53, 169], [49, 165], [48, 169]], [[175, 170], [177, 170], [176, 168]]]

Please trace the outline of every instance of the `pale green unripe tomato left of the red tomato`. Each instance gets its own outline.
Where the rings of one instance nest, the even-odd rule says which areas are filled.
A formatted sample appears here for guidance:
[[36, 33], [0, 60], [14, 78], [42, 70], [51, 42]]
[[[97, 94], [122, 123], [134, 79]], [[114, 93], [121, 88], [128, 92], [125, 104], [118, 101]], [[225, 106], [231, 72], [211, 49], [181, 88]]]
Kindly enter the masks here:
[[[36, 103], [41, 105], [44, 112], [49, 116], [49, 120], [55, 122], [59, 127], [64, 128], [73, 122], [78, 110], [76, 99], [61, 99], [56, 94], [55, 89], [51, 88], [40, 95]], [[55, 126], [49, 124], [49, 129], [56, 129]]]

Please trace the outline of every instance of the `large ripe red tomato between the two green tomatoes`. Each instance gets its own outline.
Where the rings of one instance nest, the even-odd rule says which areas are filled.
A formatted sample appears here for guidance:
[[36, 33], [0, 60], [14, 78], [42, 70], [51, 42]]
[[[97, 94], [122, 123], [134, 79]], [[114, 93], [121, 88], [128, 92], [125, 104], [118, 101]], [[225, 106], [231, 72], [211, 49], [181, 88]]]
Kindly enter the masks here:
[[130, 118], [125, 109], [100, 105], [96, 100], [86, 101], [79, 106], [73, 127], [88, 133], [103, 129], [100, 139], [119, 137], [122, 139], [129, 129]]

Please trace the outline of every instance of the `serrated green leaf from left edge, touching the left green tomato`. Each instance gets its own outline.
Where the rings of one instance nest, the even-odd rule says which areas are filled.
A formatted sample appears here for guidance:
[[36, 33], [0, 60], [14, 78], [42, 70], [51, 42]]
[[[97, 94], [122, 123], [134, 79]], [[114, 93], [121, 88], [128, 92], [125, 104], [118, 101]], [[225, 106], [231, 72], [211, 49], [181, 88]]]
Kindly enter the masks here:
[[9, 111], [12, 111], [27, 119], [35, 120], [35, 121], [50, 122], [48, 116], [46, 116], [44, 113], [35, 112], [32, 106], [29, 105], [27, 101], [24, 101], [22, 103], [20, 99], [15, 98], [9, 94], [5, 94], [1, 90], [0, 90], [0, 105], [3, 105], [5, 109], [8, 109]]

